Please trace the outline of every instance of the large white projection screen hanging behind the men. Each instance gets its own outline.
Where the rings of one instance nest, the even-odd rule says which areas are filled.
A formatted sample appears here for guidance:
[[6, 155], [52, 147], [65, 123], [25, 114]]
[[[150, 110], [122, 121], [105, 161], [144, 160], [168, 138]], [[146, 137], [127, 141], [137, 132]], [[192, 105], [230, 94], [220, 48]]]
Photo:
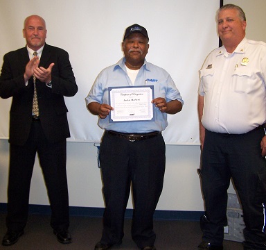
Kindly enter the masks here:
[[[197, 118], [198, 71], [218, 47], [215, 12], [219, 0], [0, 0], [0, 65], [8, 51], [25, 46], [25, 17], [46, 20], [47, 44], [69, 52], [78, 84], [75, 97], [65, 97], [71, 129], [69, 142], [100, 142], [98, 117], [85, 106], [85, 97], [102, 69], [122, 58], [127, 26], [145, 26], [150, 37], [146, 59], [166, 69], [184, 99], [177, 115], [168, 115], [166, 144], [199, 144]], [[12, 99], [0, 99], [0, 139], [8, 139]]]

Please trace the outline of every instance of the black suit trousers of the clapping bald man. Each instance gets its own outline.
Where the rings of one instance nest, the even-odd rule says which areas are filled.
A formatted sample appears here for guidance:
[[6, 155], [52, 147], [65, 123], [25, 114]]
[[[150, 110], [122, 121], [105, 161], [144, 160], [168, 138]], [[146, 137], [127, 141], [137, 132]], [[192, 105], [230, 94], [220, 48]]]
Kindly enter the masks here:
[[36, 152], [46, 183], [51, 204], [51, 226], [56, 231], [69, 227], [69, 195], [67, 190], [67, 143], [46, 140], [40, 122], [33, 122], [26, 144], [10, 144], [10, 171], [8, 182], [8, 215], [10, 231], [21, 231], [26, 226], [30, 181]]

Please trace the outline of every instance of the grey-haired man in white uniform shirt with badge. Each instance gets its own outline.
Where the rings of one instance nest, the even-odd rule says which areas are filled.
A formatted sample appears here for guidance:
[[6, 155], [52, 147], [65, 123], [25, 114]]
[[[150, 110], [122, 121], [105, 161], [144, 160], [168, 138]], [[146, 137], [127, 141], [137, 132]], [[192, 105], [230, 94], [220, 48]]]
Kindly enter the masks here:
[[245, 38], [243, 10], [218, 10], [223, 46], [200, 70], [199, 119], [202, 144], [202, 249], [223, 249], [230, 178], [244, 214], [247, 249], [266, 249], [266, 44]]

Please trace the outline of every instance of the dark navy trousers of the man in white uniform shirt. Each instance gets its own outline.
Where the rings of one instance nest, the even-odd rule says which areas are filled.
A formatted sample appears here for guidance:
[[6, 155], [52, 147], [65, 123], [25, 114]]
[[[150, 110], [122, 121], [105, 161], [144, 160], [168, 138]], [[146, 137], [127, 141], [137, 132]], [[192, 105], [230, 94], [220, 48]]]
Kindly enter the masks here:
[[206, 130], [202, 151], [202, 190], [206, 217], [203, 240], [221, 245], [227, 226], [227, 189], [230, 178], [238, 192], [244, 215], [245, 249], [266, 249], [266, 161], [261, 156], [263, 128], [241, 135]]

